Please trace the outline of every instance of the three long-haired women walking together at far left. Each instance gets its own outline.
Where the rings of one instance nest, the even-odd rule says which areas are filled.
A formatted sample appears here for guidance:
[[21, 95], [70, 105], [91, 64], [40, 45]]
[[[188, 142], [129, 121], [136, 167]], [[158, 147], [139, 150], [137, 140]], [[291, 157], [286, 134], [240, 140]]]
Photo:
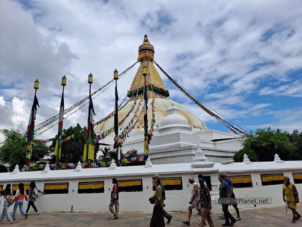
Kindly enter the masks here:
[[[3, 223], [4, 218], [6, 217], [8, 224], [11, 224], [14, 220], [17, 219], [17, 209], [19, 207], [19, 210], [21, 212], [21, 215], [27, 219], [29, 208], [32, 206], [34, 208], [34, 213], [37, 215], [39, 214], [39, 211], [37, 210], [36, 206], [34, 205], [34, 202], [36, 202], [37, 193], [41, 192], [39, 189], [37, 189], [36, 184], [34, 181], [30, 183], [29, 187], [29, 193], [28, 197], [26, 195], [26, 190], [24, 189], [24, 184], [20, 183], [18, 185], [18, 190], [15, 193], [15, 196], [13, 196], [13, 191], [11, 190], [11, 184], [7, 184], [5, 189], [3, 189], [0, 192], [0, 196], [3, 196], [3, 211], [0, 218], [0, 224]], [[45, 194], [45, 192], [41, 192]], [[26, 211], [23, 209], [24, 199], [28, 201], [28, 206]], [[14, 204], [14, 209], [12, 213], [12, 217], [10, 216], [8, 212], [8, 208]]]

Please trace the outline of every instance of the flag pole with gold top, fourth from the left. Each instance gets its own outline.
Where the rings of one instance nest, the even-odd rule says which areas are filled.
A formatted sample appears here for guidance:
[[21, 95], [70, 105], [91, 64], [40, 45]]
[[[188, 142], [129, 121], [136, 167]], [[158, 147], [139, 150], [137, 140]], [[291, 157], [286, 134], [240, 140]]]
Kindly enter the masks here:
[[113, 79], [115, 80], [115, 105], [114, 105], [114, 145], [113, 145], [113, 150], [117, 150], [117, 166], [120, 165], [120, 147], [119, 147], [119, 140], [117, 139], [118, 137], [118, 93], [117, 93], [117, 80], [118, 80], [118, 71], [115, 69], [114, 70], [114, 75]]

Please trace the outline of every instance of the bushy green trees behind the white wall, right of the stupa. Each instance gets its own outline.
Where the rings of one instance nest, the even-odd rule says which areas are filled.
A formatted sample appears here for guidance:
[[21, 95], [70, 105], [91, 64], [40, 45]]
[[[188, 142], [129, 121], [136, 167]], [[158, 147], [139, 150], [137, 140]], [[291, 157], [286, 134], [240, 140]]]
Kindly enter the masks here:
[[[243, 149], [234, 155], [236, 162], [243, 161], [243, 154], [246, 153], [251, 161], [268, 162], [274, 160], [277, 153], [281, 160], [301, 160], [302, 134], [297, 130], [289, 134], [287, 131], [259, 128], [250, 131], [250, 134], [243, 135]], [[255, 155], [256, 157], [255, 157]]]

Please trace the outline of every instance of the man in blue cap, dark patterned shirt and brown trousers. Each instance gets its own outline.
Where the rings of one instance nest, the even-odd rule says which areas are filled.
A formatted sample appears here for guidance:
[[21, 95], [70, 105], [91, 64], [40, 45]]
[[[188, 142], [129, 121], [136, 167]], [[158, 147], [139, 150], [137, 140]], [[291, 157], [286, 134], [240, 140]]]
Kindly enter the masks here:
[[210, 209], [212, 209], [212, 205], [211, 205], [211, 195], [210, 195], [210, 190], [209, 188], [205, 185], [205, 181], [203, 178], [200, 178], [198, 180], [199, 185], [200, 185], [200, 204], [201, 204], [201, 223], [200, 223], [200, 227], [204, 227], [204, 225], [206, 224], [206, 220], [208, 221], [210, 227], [215, 227], [212, 217], [210, 215]]

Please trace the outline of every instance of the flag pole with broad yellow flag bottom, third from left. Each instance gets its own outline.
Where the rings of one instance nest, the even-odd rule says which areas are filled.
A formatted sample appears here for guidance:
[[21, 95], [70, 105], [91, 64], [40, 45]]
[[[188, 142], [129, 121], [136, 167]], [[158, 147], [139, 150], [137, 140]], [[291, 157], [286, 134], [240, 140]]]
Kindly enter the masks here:
[[85, 145], [84, 145], [84, 154], [83, 154], [83, 162], [87, 164], [90, 160], [94, 161], [94, 151], [95, 151], [95, 134], [94, 134], [94, 120], [93, 115], [95, 115], [92, 98], [91, 98], [91, 84], [92, 82], [92, 74], [88, 75], [88, 83], [89, 83], [89, 110], [88, 110], [88, 122], [85, 136]]

